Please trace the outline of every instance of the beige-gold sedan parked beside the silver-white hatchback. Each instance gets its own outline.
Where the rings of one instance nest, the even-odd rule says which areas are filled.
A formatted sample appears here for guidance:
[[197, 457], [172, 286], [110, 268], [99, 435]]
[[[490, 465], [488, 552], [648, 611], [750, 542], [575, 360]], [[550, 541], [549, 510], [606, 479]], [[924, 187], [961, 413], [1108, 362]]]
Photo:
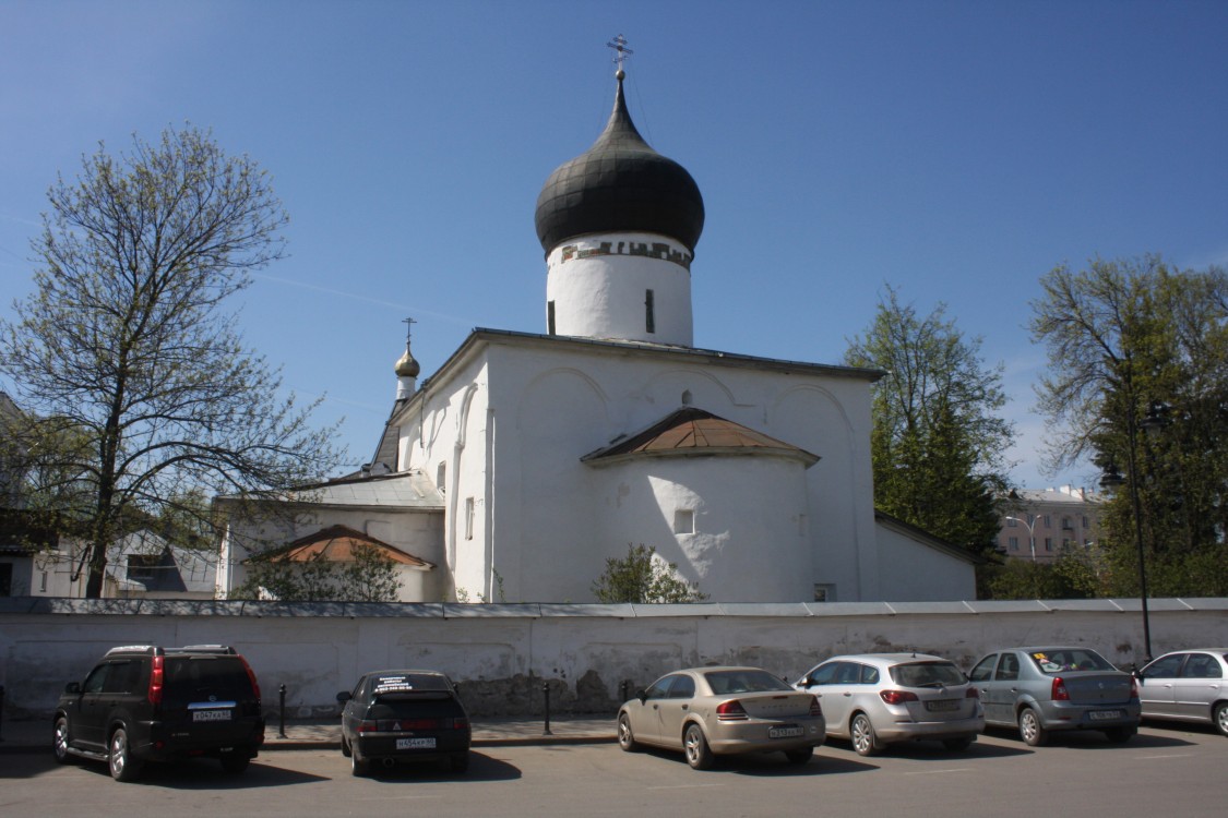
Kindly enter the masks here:
[[693, 769], [715, 755], [785, 753], [810, 760], [826, 737], [819, 701], [758, 667], [694, 667], [667, 673], [618, 711], [618, 743], [679, 749]]

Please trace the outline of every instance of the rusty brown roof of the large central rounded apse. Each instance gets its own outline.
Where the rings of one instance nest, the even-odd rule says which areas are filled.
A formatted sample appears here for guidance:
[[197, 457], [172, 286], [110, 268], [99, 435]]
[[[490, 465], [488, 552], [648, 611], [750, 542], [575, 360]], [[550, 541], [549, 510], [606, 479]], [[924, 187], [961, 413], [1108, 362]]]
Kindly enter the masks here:
[[804, 449], [777, 440], [711, 412], [684, 406], [630, 438], [581, 457], [583, 462], [624, 459], [635, 455], [777, 455], [801, 460], [807, 467], [819, 461]]

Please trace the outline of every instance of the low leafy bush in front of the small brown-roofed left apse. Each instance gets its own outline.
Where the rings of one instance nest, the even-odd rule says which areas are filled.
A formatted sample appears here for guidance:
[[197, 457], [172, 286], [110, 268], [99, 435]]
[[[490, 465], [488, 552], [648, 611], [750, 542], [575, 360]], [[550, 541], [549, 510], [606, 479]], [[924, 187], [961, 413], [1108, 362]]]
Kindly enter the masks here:
[[402, 586], [397, 563], [370, 545], [355, 546], [351, 554], [354, 559], [345, 562], [328, 560], [319, 553], [291, 562], [266, 552], [248, 563], [247, 580], [230, 596], [282, 602], [395, 602]]

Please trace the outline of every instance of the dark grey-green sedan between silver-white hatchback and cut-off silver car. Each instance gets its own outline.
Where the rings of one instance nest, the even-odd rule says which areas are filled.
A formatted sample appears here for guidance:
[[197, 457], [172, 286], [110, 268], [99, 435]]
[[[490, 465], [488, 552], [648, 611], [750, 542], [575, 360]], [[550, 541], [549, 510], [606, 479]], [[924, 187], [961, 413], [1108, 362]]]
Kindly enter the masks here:
[[1099, 730], [1113, 742], [1138, 732], [1138, 689], [1090, 648], [1003, 648], [969, 673], [981, 689], [985, 721], [1018, 727], [1030, 747], [1059, 730]]

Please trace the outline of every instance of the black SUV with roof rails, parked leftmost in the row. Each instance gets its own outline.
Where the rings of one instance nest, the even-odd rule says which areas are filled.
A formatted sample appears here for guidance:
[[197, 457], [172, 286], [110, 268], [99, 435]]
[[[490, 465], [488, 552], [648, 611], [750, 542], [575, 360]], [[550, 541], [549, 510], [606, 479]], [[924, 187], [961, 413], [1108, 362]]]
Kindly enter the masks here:
[[106, 760], [117, 781], [195, 755], [242, 773], [263, 743], [260, 686], [225, 645], [113, 648], [55, 706], [55, 760]]

